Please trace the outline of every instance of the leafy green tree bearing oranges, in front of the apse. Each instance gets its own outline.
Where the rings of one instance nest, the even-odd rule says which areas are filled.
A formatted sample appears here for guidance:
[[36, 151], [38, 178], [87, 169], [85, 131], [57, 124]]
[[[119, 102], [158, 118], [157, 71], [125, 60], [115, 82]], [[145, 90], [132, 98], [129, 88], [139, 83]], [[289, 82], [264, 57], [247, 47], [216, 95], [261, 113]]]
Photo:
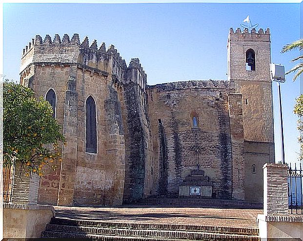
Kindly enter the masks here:
[[34, 98], [32, 89], [9, 81], [3, 83], [3, 166], [20, 162], [20, 175], [43, 175], [43, 166], [53, 169], [61, 161], [61, 127], [52, 117], [47, 100]]

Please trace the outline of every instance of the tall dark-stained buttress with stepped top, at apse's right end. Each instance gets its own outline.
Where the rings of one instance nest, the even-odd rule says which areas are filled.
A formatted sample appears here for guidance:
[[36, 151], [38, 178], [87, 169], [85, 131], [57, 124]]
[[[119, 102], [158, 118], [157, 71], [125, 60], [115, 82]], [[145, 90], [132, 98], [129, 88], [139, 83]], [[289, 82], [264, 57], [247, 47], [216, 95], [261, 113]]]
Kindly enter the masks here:
[[146, 100], [146, 74], [132, 59], [124, 81], [125, 99], [125, 203], [155, 194], [152, 138]]

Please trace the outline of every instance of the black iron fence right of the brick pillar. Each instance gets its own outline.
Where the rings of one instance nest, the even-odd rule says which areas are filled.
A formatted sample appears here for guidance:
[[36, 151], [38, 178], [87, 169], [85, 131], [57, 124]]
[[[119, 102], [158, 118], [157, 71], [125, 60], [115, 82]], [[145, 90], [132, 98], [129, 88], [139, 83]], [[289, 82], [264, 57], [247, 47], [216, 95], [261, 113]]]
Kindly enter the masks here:
[[303, 170], [300, 163], [300, 167], [292, 169], [291, 164], [287, 170], [287, 182], [288, 182], [288, 207], [291, 214], [303, 214], [303, 186], [302, 180]]

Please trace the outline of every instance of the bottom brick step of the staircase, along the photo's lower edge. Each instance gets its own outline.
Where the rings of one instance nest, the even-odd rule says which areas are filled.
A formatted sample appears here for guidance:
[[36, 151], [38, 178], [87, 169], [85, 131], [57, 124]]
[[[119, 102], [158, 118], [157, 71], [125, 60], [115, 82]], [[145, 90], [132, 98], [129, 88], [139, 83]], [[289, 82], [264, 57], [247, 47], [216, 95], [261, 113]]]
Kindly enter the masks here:
[[[136, 237], [136, 236], [117, 236], [117, 235], [106, 235], [106, 234], [85, 234], [85, 233], [72, 233], [72, 232], [54, 232], [54, 231], [43, 231], [42, 238], [59, 238], [59, 239], [91, 239], [100, 241], [185, 241], [190, 240], [187, 238], [176, 239], [172, 237]], [[201, 238], [191, 240], [204, 240], [204, 241], [259, 241], [260, 238], [257, 236], [245, 236], [245, 235], [227, 235], [227, 234], [214, 234], [214, 233], [202, 233]]]

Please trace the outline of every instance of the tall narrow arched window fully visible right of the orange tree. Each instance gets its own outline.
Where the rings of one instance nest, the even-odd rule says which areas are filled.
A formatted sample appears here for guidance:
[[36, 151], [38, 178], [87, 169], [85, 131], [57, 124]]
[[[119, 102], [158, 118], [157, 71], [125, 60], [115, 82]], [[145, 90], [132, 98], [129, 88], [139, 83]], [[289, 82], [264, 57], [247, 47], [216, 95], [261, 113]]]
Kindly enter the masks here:
[[96, 103], [91, 96], [85, 104], [85, 151], [97, 153]]

